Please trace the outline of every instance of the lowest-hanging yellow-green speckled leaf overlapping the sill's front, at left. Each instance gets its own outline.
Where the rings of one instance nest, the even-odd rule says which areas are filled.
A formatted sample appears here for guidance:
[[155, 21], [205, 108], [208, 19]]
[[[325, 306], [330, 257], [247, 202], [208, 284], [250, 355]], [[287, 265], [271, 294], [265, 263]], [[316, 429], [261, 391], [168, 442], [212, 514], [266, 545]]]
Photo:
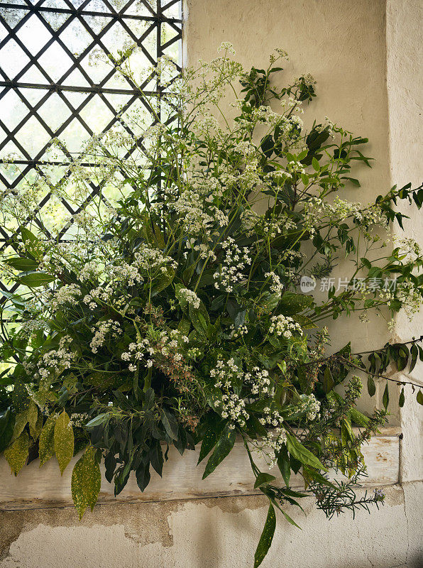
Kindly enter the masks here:
[[72, 471], [72, 499], [78, 511], [79, 520], [82, 519], [88, 506], [91, 507], [91, 510], [94, 509], [99, 497], [101, 474], [95, 453], [95, 449], [88, 446]]

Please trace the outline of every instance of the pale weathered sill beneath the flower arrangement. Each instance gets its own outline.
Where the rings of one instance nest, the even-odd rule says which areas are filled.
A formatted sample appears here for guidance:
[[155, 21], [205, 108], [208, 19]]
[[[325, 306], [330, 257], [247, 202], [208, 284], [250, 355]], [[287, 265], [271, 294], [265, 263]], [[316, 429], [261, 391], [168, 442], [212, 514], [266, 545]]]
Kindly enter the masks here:
[[[353, 430], [357, 430], [354, 428]], [[363, 486], [388, 486], [397, 484], [400, 474], [400, 436], [397, 427], [386, 427], [363, 447], [368, 465], [368, 477]], [[236, 441], [228, 457], [204, 481], [202, 474], [207, 459], [197, 467], [199, 449], [187, 451], [180, 456], [174, 447], [169, 450], [169, 459], [163, 466], [163, 478], [151, 469], [151, 481], [143, 493], [139, 490], [133, 473], [123, 491], [114, 497], [114, 486], [109, 484], [102, 472], [98, 504], [142, 503], [157, 501], [187, 500], [207, 497], [257, 495], [254, 476], [243, 442]], [[9, 464], [0, 459], [0, 510], [23, 510], [72, 506], [70, 480], [75, 457], [62, 477], [55, 458], [50, 459], [39, 471], [38, 460], [24, 466], [18, 476], [11, 476]], [[257, 460], [260, 464], [260, 460]], [[262, 471], [267, 466], [260, 464]], [[277, 468], [272, 472], [277, 478]], [[302, 487], [302, 477], [292, 480], [293, 488]]]

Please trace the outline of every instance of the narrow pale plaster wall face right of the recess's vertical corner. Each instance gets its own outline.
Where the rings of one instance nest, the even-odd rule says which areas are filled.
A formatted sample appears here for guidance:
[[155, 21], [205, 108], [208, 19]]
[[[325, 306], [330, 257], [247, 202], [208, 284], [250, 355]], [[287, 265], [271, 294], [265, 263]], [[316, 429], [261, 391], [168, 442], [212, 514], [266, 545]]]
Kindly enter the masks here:
[[[390, 143], [391, 184], [402, 187], [422, 183], [422, 92], [423, 92], [423, 3], [419, 0], [388, 0], [386, 50], [387, 92]], [[410, 219], [405, 221], [405, 234], [423, 244], [423, 212], [403, 206]], [[399, 238], [402, 231], [398, 230]], [[397, 317], [397, 340], [406, 341], [423, 333], [423, 312], [412, 322], [405, 315]], [[412, 378], [423, 382], [423, 364], [412, 372]], [[423, 408], [414, 397], [407, 398], [400, 414], [404, 432], [402, 441], [402, 480], [423, 479]], [[423, 561], [422, 561], [423, 564]]]

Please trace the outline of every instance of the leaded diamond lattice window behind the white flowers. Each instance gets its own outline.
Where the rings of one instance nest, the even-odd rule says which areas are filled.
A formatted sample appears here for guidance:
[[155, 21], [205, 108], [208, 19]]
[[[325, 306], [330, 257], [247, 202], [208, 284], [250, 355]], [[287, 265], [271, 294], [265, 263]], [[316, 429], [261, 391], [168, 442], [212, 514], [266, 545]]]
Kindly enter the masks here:
[[[150, 108], [155, 104], [155, 92], [161, 90], [154, 76], [157, 58], [170, 55], [179, 64], [181, 38], [181, 0], [2, 2], [1, 199], [13, 199], [14, 195], [18, 199], [26, 190], [26, 179], [41, 176], [53, 185], [62, 183], [83, 144], [92, 133], [116, 124], [118, 113], [123, 124], [126, 121], [127, 131], [141, 136], [131, 113], [136, 112], [145, 125], [154, 123]], [[129, 55], [129, 62], [143, 92], [109, 62], [110, 54], [132, 45], [138, 49]], [[52, 145], [51, 139], [56, 137], [62, 146]], [[128, 156], [137, 152], [135, 148], [125, 151]], [[4, 163], [11, 154], [18, 160], [16, 166]], [[106, 207], [107, 200], [116, 199], [116, 188], [108, 182], [102, 185], [100, 207]], [[93, 184], [87, 190], [88, 208], [93, 198], [99, 199], [96, 195], [99, 185]], [[72, 197], [66, 202], [50, 195], [47, 187], [37, 195], [37, 202], [33, 219], [23, 223], [38, 227], [47, 237], [58, 234], [72, 239], [72, 215], [79, 210]], [[16, 229], [16, 222], [0, 225], [0, 247], [9, 253], [13, 253]], [[0, 290], [10, 289], [10, 283], [0, 281]]]

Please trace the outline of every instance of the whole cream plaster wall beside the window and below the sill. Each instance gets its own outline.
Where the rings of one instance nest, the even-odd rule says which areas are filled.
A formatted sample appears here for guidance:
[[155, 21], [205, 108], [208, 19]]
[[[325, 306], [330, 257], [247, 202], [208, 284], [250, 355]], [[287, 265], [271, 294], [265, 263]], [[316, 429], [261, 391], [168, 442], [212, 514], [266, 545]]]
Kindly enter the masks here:
[[[312, 116], [328, 115], [370, 138], [375, 165], [357, 176], [363, 185], [356, 199], [366, 201], [393, 182], [419, 181], [420, 6], [413, 0], [188, 0], [185, 58], [212, 58], [222, 40], [234, 43], [245, 65], [260, 65], [275, 47], [287, 50], [287, 77], [311, 72], [317, 79]], [[415, 217], [407, 234], [421, 228]], [[422, 327], [421, 319], [412, 326], [400, 320], [398, 337]], [[357, 349], [388, 337], [379, 322], [332, 330], [339, 344], [352, 338]], [[422, 380], [421, 369], [415, 373]], [[402, 479], [409, 482], [388, 488], [384, 508], [359, 513], [354, 522], [348, 514], [328, 522], [308, 501], [307, 517], [292, 512], [304, 530], [279, 520], [263, 567], [421, 567], [418, 413], [409, 402], [398, 416], [405, 433]], [[1, 513], [0, 568], [245, 568], [252, 566], [265, 512], [262, 498], [238, 497], [99, 506], [82, 523], [71, 509]]]

